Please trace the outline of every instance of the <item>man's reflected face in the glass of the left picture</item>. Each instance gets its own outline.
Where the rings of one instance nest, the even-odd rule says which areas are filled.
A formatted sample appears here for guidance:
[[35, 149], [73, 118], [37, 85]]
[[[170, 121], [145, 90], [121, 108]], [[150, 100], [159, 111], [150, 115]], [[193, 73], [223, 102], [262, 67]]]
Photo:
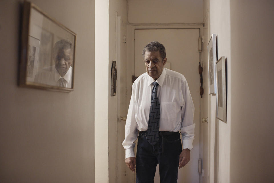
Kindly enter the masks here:
[[71, 49], [59, 48], [53, 59], [55, 61], [56, 70], [63, 77], [72, 64], [72, 51]]

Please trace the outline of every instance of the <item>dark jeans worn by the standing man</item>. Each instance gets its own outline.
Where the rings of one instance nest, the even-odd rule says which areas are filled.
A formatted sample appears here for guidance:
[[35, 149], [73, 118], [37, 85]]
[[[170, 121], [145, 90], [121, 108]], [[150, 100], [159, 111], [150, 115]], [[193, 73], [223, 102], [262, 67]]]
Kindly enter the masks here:
[[146, 140], [146, 131], [139, 132], [136, 183], [153, 183], [157, 164], [161, 183], [177, 182], [181, 152], [179, 132], [160, 132], [160, 140], [155, 145], [149, 144]]

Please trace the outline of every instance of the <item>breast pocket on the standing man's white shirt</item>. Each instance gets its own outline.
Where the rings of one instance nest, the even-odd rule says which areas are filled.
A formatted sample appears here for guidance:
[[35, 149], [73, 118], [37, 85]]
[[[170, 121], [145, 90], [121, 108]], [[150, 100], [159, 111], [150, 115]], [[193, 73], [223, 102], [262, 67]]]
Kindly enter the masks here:
[[161, 118], [173, 120], [177, 117], [181, 107], [176, 102], [161, 102], [160, 116]]

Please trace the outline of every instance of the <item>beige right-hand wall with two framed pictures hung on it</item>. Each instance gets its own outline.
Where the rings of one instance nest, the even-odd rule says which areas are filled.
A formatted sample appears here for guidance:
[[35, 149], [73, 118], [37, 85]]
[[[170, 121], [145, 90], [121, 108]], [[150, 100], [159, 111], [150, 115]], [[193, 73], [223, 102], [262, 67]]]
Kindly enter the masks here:
[[[273, 1], [205, 0], [218, 58], [227, 57], [227, 123], [209, 99], [208, 182], [273, 181]], [[210, 38], [210, 37], [209, 37]]]

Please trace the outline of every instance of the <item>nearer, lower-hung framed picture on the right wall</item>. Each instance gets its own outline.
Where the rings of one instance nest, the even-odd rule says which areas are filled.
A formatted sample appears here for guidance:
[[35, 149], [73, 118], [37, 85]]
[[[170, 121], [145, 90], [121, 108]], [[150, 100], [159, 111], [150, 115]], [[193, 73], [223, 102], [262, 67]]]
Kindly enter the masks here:
[[217, 68], [217, 118], [226, 122], [226, 66], [225, 57], [216, 62]]

